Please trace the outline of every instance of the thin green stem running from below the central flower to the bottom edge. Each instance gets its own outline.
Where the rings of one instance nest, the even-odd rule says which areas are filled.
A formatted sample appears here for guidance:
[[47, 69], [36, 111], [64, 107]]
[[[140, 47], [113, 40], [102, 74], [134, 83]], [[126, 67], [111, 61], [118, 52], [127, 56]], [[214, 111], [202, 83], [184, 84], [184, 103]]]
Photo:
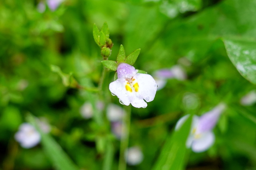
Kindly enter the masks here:
[[120, 155], [118, 170], [126, 170], [125, 151], [129, 143], [131, 106], [124, 107], [126, 114], [123, 117], [122, 137], [120, 142]]

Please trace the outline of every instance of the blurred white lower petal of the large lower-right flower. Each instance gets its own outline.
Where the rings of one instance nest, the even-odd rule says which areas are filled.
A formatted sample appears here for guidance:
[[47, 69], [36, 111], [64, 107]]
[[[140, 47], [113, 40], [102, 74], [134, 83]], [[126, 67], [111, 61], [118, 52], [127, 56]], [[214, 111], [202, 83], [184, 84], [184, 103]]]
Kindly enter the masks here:
[[201, 137], [199, 139], [194, 139], [192, 143], [192, 150], [194, 152], [204, 152], [209, 149], [215, 141], [215, 136], [212, 131], [208, 131], [200, 135]]

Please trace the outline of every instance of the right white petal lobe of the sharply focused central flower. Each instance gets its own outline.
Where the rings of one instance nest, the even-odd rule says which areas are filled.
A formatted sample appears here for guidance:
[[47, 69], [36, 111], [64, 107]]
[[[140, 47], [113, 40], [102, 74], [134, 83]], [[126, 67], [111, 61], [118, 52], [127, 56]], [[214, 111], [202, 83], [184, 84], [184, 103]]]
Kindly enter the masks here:
[[138, 98], [143, 98], [146, 102], [151, 102], [154, 100], [157, 90], [156, 81], [149, 74], [136, 74], [136, 78], [138, 80], [139, 90], [138, 90]]

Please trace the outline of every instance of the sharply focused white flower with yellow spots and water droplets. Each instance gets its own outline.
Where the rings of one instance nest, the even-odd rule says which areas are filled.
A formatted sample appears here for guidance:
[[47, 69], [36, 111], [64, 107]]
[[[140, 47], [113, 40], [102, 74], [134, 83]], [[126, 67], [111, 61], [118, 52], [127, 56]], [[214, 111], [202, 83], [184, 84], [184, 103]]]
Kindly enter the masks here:
[[[121, 63], [117, 68], [118, 79], [109, 85], [112, 94], [119, 98], [121, 104], [134, 107], [147, 107], [146, 102], [154, 100], [157, 84], [149, 74], [137, 73], [133, 66]], [[146, 102], [144, 101], [146, 100]]]

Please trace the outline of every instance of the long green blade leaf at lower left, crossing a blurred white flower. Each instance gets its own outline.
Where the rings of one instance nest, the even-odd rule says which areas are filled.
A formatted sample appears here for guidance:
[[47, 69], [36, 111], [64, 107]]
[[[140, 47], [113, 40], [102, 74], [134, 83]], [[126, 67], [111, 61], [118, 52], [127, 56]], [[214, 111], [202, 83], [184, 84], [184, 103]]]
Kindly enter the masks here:
[[60, 145], [46, 133], [43, 133], [38, 126], [38, 120], [32, 115], [27, 116], [27, 120], [37, 129], [41, 135], [41, 142], [46, 155], [54, 164], [57, 170], [79, 170], [78, 167], [72, 162], [68, 155], [62, 150]]

